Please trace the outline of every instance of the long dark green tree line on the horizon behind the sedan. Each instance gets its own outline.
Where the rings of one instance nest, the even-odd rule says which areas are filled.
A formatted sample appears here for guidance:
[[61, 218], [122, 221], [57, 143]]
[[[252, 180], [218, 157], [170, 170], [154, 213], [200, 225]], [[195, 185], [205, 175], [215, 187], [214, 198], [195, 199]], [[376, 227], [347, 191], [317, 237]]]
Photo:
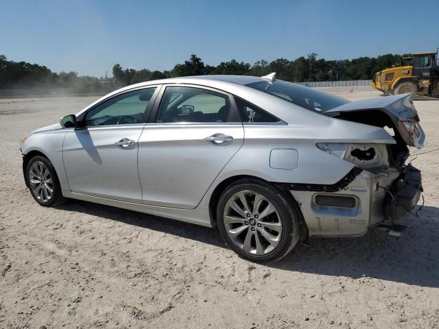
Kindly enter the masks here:
[[399, 62], [400, 56], [386, 54], [377, 58], [360, 57], [352, 60], [324, 60], [317, 53], [309, 53], [296, 60], [278, 58], [272, 62], [259, 60], [248, 62], [221, 62], [217, 66], [204, 64], [201, 58], [192, 55], [189, 60], [176, 64], [170, 71], [150, 69], [123, 69], [120, 64], [112, 67], [114, 79], [78, 76], [76, 72], [54, 73], [46, 66], [27, 62], [14, 62], [0, 55], [0, 89], [8, 88], [75, 88], [99, 90], [127, 86], [147, 80], [189, 75], [234, 74], [263, 76], [276, 72], [276, 77], [290, 82], [368, 80], [373, 73]]

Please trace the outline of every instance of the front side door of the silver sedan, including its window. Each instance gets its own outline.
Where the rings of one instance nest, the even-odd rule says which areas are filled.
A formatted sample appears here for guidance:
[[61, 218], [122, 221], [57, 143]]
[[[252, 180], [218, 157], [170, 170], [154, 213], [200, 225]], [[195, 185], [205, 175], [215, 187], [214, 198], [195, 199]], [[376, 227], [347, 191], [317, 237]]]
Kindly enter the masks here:
[[141, 202], [138, 141], [156, 88], [112, 97], [89, 110], [64, 139], [64, 167], [72, 192]]

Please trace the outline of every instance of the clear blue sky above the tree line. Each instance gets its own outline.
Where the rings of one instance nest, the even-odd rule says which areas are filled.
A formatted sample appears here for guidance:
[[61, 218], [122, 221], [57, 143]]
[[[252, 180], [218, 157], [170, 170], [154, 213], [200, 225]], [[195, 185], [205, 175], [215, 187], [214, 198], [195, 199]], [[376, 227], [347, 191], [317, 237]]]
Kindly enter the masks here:
[[327, 60], [439, 47], [439, 1], [1, 0], [0, 54], [103, 76], [112, 66]]

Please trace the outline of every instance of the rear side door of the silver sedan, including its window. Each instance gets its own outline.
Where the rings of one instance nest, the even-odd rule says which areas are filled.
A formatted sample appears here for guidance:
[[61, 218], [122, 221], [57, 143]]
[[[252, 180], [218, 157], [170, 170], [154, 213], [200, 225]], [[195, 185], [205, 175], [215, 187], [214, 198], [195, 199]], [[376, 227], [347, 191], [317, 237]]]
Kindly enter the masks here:
[[166, 86], [139, 139], [143, 203], [195, 208], [244, 143], [233, 97], [219, 90]]

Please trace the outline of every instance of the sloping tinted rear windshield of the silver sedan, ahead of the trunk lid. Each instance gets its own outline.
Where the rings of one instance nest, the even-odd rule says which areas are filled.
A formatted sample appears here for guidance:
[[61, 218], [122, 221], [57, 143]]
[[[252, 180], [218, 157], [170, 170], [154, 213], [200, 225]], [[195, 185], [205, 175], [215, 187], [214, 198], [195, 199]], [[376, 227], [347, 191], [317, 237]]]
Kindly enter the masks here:
[[261, 90], [314, 112], [324, 113], [349, 103], [347, 99], [282, 80], [261, 81], [246, 86]]

